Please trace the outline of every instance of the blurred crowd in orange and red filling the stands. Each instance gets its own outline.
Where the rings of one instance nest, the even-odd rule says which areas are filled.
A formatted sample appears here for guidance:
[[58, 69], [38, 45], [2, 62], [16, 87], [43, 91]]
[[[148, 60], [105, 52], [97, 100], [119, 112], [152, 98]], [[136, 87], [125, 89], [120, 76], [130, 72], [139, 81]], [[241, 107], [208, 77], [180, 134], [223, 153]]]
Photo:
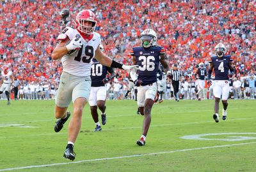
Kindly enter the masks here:
[[[140, 45], [140, 33], [152, 28], [157, 44], [166, 48], [170, 66], [178, 64], [185, 78], [195, 80], [196, 65], [207, 66], [220, 42], [234, 59], [237, 80], [256, 75], [256, 1], [3, 0], [0, 66], [8, 64], [23, 84], [58, 85], [61, 62], [52, 61], [51, 53], [63, 27], [63, 8], [70, 10], [67, 25], [71, 27], [79, 11], [92, 10], [105, 54], [124, 64], [131, 64], [129, 52]], [[116, 72], [118, 81], [127, 85], [127, 72]]]

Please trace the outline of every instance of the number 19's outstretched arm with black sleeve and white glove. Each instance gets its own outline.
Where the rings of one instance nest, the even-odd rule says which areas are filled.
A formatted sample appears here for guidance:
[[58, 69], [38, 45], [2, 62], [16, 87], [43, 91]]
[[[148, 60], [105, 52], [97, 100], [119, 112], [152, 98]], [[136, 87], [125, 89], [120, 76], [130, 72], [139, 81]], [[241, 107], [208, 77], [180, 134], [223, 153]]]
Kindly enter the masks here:
[[136, 65], [127, 66], [127, 65], [121, 64], [119, 62], [113, 61], [108, 56], [104, 55], [102, 53], [102, 51], [100, 51], [99, 47], [95, 51], [95, 59], [97, 59], [97, 61], [99, 61], [100, 64], [102, 64], [104, 66], [111, 67], [111, 68], [119, 68], [119, 69], [130, 70], [130, 69], [133, 69], [133, 68], [137, 67]]

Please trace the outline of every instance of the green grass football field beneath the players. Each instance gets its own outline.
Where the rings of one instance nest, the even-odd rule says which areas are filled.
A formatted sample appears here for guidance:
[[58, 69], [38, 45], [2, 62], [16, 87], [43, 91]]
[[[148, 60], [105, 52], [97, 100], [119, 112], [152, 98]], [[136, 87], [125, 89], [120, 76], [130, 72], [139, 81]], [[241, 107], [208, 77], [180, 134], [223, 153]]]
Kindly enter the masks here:
[[[145, 147], [136, 145], [143, 117], [135, 101], [107, 101], [108, 122], [96, 133], [87, 104], [72, 162], [62, 158], [69, 120], [53, 130], [54, 101], [0, 101], [0, 171], [256, 171], [256, 102], [228, 102], [218, 124], [212, 100], [154, 105]], [[209, 133], [217, 134], [181, 138]]]

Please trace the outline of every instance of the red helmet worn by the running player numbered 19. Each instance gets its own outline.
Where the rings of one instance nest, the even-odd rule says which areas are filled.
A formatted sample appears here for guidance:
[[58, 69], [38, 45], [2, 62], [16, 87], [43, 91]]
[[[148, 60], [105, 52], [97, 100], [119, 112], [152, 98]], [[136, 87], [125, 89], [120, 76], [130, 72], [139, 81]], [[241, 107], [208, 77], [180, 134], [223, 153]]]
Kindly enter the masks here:
[[[92, 26], [88, 26], [85, 22], [92, 22]], [[76, 27], [84, 34], [93, 34], [96, 27], [96, 17], [91, 10], [82, 10], [76, 16]]]

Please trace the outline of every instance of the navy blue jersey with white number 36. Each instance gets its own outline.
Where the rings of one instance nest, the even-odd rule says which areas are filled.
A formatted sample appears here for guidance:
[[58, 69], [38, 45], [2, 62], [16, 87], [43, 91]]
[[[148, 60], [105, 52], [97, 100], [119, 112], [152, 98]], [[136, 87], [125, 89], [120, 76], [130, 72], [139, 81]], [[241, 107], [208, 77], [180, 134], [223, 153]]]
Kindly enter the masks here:
[[143, 82], [141, 85], [157, 82], [160, 55], [163, 54], [165, 54], [165, 50], [160, 46], [132, 48], [131, 55], [136, 57], [136, 64], [139, 66], [138, 80]]

